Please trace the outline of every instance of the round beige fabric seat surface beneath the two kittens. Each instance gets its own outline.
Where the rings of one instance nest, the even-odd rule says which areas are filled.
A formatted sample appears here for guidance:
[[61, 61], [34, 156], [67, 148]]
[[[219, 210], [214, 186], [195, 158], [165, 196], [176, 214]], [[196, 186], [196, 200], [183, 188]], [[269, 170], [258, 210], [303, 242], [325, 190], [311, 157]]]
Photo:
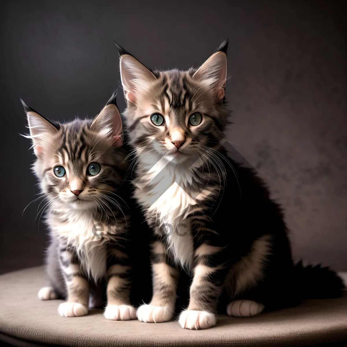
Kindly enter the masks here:
[[176, 321], [109, 321], [102, 310], [63, 318], [60, 301], [37, 298], [44, 285], [43, 267], [0, 276], [0, 340], [13, 336], [64, 346], [297, 346], [347, 340], [347, 295], [251, 318], [220, 316], [217, 327], [191, 331]]

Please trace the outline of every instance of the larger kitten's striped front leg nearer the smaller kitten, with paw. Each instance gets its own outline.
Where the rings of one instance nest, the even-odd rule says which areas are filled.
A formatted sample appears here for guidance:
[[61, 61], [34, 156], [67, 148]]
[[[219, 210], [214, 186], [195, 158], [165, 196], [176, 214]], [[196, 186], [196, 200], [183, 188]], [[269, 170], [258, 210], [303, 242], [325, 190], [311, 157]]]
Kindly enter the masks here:
[[168, 255], [161, 241], [152, 245], [153, 297], [149, 305], [137, 310], [137, 319], [147, 323], [160, 323], [172, 319], [175, 312], [179, 270], [168, 264]]

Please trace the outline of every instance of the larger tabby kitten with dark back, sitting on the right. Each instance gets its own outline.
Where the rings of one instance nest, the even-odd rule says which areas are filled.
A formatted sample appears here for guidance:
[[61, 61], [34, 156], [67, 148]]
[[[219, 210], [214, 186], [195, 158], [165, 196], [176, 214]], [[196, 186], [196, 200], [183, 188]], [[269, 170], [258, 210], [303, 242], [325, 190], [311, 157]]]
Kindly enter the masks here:
[[118, 46], [135, 197], [154, 238], [153, 297], [137, 311], [143, 322], [172, 319], [181, 269], [192, 275], [179, 315], [187, 329], [213, 327], [224, 300], [229, 315], [245, 317], [297, 304], [310, 282], [313, 296], [342, 287], [328, 269], [293, 265], [279, 206], [220, 144], [229, 116], [227, 45], [198, 69], [153, 72]]

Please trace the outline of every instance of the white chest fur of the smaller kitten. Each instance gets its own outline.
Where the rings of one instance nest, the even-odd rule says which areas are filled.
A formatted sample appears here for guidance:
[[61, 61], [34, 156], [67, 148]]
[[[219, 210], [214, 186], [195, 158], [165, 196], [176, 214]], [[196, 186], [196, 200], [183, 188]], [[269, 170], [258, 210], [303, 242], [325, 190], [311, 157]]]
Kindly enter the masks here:
[[[82, 268], [95, 280], [98, 281], [106, 274], [108, 240], [107, 227], [104, 226], [102, 236], [93, 234], [95, 211], [70, 210], [59, 214], [59, 218], [52, 218], [54, 234], [66, 239], [68, 244], [75, 247], [80, 258]], [[96, 230], [96, 233], [100, 233]]]

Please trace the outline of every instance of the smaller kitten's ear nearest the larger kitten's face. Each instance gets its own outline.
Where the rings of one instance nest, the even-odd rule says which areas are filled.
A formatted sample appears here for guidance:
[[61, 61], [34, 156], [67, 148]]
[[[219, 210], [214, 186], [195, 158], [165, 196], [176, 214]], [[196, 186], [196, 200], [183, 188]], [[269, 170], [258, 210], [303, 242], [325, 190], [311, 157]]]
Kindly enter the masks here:
[[117, 90], [112, 94], [105, 107], [96, 116], [90, 126], [91, 131], [107, 137], [113, 145], [122, 145], [122, 119], [116, 103]]

